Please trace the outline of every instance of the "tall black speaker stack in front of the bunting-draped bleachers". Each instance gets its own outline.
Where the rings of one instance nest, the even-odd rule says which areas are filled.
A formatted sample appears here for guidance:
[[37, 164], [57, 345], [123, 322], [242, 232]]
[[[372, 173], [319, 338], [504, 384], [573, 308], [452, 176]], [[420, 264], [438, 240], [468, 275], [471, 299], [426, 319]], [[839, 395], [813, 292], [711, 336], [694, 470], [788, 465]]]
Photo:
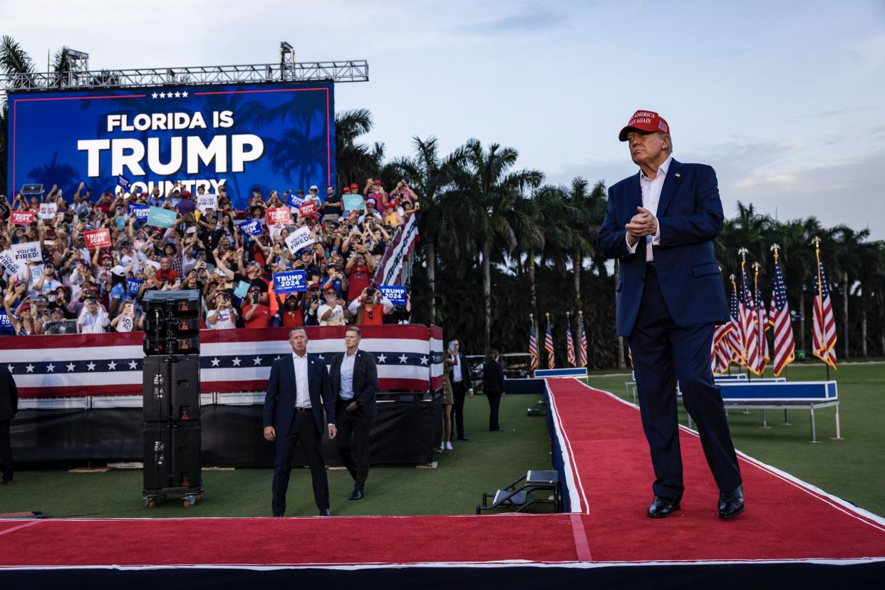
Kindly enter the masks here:
[[144, 309], [144, 489], [153, 508], [167, 496], [203, 496], [200, 463], [200, 293], [149, 291]]

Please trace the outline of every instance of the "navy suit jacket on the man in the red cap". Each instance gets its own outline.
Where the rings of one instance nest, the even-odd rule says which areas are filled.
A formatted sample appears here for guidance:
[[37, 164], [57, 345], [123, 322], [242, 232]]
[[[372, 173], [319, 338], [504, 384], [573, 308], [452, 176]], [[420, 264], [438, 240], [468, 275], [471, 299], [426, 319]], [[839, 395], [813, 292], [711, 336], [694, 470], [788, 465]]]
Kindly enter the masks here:
[[[639, 173], [609, 188], [605, 219], [597, 244], [605, 257], [620, 258], [617, 328], [633, 332], [645, 283], [645, 243], [635, 254], [627, 249], [624, 226], [643, 206]], [[722, 203], [716, 172], [703, 164], [672, 160], [658, 201], [660, 245], [654, 246], [661, 295], [677, 326], [722, 324], [728, 321], [725, 288], [713, 256], [713, 239], [722, 228]]]

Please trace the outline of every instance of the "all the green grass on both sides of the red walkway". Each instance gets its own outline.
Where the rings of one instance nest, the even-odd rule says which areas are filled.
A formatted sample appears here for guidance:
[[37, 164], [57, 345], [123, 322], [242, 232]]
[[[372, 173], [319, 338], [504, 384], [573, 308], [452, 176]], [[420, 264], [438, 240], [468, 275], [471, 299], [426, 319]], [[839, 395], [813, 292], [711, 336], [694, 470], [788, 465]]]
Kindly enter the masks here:
[[[824, 379], [821, 364], [794, 364], [789, 379]], [[809, 413], [793, 410], [792, 425], [781, 425], [783, 414], [768, 411], [729, 412], [735, 447], [799, 479], [861, 508], [885, 515], [885, 364], [843, 365], [831, 372], [838, 380], [842, 441], [835, 441], [835, 410], [817, 414], [820, 444], [812, 444]], [[627, 399], [626, 374], [594, 372], [589, 384]], [[467, 435], [454, 451], [435, 454], [435, 469], [414, 466], [373, 467], [366, 498], [349, 502], [352, 481], [347, 471], [329, 471], [332, 512], [336, 515], [473, 514], [481, 493], [517, 479], [527, 469], [550, 467], [550, 441], [544, 418], [529, 418], [533, 395], [504, 397], [503, 433], [487, 430], [488, 405], [482, 396], [467, 400]], [[628, 399], [632, 402], [632, 398]], [[682, 424], [686, 416], [681, 411]], [[635, 417], [638, 422], [638, 414]], [[649, 466], [650, 472], [650, 466]], [[156, 509], [142, 507], [142, 472], [68, 473], [18, 471], [16, 485], [0, 487], [0, 513], [42, 511], [50, 517], [259, 517], [270, 516], [272, 471], [239, 469], [204, 471], [206, 493], [201, 502], [184, 509], [166, 501]], [[293, 471], [289, 515], [315, 513], [306, 469]]]

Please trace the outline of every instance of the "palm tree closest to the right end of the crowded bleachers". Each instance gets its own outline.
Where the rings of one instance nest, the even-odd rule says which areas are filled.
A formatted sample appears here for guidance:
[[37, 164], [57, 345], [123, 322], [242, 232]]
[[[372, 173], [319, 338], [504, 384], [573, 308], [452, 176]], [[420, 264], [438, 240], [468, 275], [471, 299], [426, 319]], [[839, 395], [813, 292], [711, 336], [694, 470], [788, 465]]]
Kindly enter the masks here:
[[409, 182], [410, 188], [419, 196], [421, 210], [418, 218], [418, 233], [427, 261], [427, 283], [430, 287], [430, 321], [436, 321], [436, 241], [440, 226], [440, 216], [446, 210], [440, 201], [446, 188], [450, 187], [452, 174], [463, 153], [456, 150], [443, 158], [439, 155], [438, 140], [428, 137], [422, 140], [412, 138], [415, 147], [413, 157], [400, 157], [393, 162], [397, 175]]

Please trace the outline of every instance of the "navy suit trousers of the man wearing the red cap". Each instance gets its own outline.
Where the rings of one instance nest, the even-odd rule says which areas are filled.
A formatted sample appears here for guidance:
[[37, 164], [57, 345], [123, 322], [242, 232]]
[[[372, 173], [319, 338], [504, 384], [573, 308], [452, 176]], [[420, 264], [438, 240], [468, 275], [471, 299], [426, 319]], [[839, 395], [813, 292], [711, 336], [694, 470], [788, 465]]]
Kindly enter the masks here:
[[663, 498], [679, 499], [683, 490], [677, 381], [720, 491], [728, 492], [741, 484], [720, 387], [713, 383], [713, 330], [712, 324], [676, 326], [661, 295], [658, 276], [646, 274], [642, 304], [630, 334], [630, 351], [643, 430], [655, 470], [652, 489]]

